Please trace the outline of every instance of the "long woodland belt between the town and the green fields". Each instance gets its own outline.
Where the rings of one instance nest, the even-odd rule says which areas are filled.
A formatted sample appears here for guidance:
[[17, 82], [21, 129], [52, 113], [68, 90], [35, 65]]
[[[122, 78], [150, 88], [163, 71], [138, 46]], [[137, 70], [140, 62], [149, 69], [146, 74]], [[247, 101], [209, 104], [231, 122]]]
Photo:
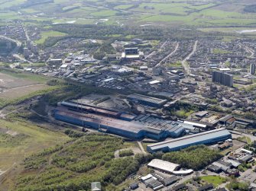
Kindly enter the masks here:
[[[124, 13], [118, 13], [124, 14]], [[125, 13], [127, 14], [127, 13]], [[130, 40], [133, 37], [141, 38], [143, 40], [164, 40], [172, 38], [173, 40], [194, 40], [198, 37], [207, 39], [216, 39], [221, 36], [221, 33], [203, 33], [199, 30], [178, 30], [171, 27], [119, 27], [115, 25], [96, 25], [96, 24], [56, 24], [51, 27], [50, 30], [66, 33], [63, 37], [48, 37], [47, 40], [41, 45], [41, 48], [50, 47], [55, 45], [60, 40], [66, 40], [70, 38], [86, 38], [105, 40], [107, 43], [100, 47], [99, 43], [87, 43], [83, 44], [83, 48], [98, 48], [100, 51], [96, 51], [95, 58], [102, 59], [104, 46], [108, 46], [109, 49], [105, 53], [112, 53], [112, 46], [110, 44], [115, 40]], [[76, 45], [77, 47], [78, 45]], [[78, 47], [77, 47], [78, 48]]]

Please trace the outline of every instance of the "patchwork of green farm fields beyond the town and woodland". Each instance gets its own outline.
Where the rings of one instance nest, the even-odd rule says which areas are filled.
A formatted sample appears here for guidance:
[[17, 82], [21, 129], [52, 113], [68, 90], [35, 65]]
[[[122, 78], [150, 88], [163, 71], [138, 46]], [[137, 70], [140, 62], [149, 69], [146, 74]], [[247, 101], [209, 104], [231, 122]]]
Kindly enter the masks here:
[[[253, 1], [241, 0], [195, 2], [188, 0], [128, 2], [116, 0], [37, 2], [24, 0], [0, 1], [0, 19], [18, 18], [24, 21], [51, 21], [76, 24], [167, 24], [198, 27], [254, 26], [255, 13], [248, 12]], [[11, 11], [8, 11], [11, 8]], [[15, 9], [17, 11], [15, 11]], [[6, 14], [8, 12], [8, 14]], [[100, 22], [108, 19], [107, 22]], [[56, 35], [53, 33], [44, 33]], [[57, 34], [59, 35], [59, 34]], [[38, 42], [41, 43], [41, 42]]]

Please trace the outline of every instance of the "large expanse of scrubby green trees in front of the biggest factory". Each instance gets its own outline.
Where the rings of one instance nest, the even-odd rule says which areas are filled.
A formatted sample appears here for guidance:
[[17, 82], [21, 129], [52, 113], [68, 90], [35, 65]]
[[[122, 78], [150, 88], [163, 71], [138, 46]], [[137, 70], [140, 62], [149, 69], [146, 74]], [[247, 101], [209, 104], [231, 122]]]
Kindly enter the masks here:
[[[114, 152], [122, 145], [121, 138], [86, 135], [34, 154], [25, 160], [31, 165], [25, 166], [26, 173], [18, 177], [15, 190], [89, 190], [91, 183], [96, 181], [102, 183], [102, 190], [115, 187], [152, 159], [151, 154], [115, 159]], [[41, 159], [43, 165], [32, 164]], [[30, 171], [31, 168], [34, 169]]]

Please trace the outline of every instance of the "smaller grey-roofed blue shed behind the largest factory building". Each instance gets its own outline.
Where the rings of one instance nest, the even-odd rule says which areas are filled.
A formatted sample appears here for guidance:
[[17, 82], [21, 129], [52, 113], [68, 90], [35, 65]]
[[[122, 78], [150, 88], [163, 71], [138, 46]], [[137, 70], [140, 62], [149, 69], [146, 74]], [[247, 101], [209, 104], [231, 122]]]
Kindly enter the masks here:
[[165, 103], [167, 103], [167, 100], [162, 100], [156, 97], [148, 97], [141, 94], [131, 94], [128, 95], [127, 98], [133, 102], [138, 102], [150, 107], [162, 107]]

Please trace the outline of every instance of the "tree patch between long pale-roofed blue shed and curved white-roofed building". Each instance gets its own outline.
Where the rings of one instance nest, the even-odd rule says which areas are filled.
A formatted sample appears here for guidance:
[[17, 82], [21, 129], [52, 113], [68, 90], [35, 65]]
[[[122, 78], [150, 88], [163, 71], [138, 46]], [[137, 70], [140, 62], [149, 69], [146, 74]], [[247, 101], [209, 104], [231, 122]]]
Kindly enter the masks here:
[[222, 158], [222, 154], [219, 154], [219, 151], [207, 148], [205, 145], [198, 145], [181, 151], [166, 153], [162, 158], [164, 161], [181, 164], [182, 167], [200, 170], [213, 161]]

